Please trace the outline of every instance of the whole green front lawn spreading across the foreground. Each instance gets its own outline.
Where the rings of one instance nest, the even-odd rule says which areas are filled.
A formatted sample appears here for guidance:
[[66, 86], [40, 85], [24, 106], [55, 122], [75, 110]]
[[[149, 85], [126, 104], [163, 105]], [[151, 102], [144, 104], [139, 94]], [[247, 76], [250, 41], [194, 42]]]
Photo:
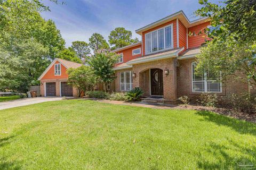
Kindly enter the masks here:
[[0, 169], [248, 167], [256, 168], [256, 124], [210, 112], [89, 100], [0, 111]]

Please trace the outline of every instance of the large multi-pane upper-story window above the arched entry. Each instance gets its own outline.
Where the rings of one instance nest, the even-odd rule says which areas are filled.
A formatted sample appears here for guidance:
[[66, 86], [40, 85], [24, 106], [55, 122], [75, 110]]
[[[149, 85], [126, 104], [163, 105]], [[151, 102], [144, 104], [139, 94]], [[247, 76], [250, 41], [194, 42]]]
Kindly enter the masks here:
[[173, 25], [167, 25], [145, 34], [146, 54], [173, 48]]

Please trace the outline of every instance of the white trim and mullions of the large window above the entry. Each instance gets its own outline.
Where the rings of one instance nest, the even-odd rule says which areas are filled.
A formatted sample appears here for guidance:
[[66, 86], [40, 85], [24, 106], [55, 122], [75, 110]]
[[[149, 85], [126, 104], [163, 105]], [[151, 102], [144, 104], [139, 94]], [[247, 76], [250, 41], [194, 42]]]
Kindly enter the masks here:
[[[165, 48], [165, 28], [166, 27], [170, 27], [171, 26], [171, 47], [168, 47], [168, 48]], [[148, 35], [148, 34], [151, 34], [152, 32], [157, 32], [157, 49], [158, 49], [158, 30], [161, 30], [161, 29], [163, 29], [164, 30], [164, 48], [163, 49], [159, 49], [159, 50], [156, 50], [156, 51], [154, 51], [154, 52], [152, 52], [152, 35], [150, 36], [150, 38], [151, 38], [151, 52], [147, 52], [147, 41], [146, 41], [146, 36]], [[150, 32], [148, 32], [148, 33], [145, 33], [145, 54], [153, 54], [153, 53], [158, 53], [158, 52], [161, 52], [161, 51], [163, 51], [163, 50], [167, 50], [167, 49], [172, 49], [173, 48], [173, 23], [171, 23], [171, 24], [169, 24], [169, 25], [166, 25], [166, 26], [164, 26], [164, 27], [161, 27], [161, 28], [158, 28], [158, 29], [156, 29], [156, 30], [154, 30], [154, 31], [150, 31]]]

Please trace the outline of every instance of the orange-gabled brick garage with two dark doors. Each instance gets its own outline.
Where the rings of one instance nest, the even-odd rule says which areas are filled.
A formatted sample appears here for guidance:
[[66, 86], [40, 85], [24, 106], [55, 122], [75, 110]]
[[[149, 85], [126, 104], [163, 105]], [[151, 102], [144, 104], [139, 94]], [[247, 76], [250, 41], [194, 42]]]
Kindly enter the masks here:
[[55, 58], [38, 78], [41, 81], [41, 96], [77, 96], [77, 89], [68, 84], [67, 69], [80, 66], [82, 64]]

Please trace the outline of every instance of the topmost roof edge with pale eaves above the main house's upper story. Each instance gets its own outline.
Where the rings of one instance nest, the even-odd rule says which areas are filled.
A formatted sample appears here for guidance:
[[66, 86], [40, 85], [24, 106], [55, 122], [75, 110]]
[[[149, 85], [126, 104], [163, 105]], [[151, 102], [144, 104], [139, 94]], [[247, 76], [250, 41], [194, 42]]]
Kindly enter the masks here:
[[158, 21], [155, 21], [153, 23], [150, 23], [148, 25], [146, 25], [145, 27], [142, 27], [138, 30], [135, 30], [136, 33], [138, 33], [139, 35], [142, 34], [142, 32], [144, 31], [147, 31], [151, 28], [154, 28], [154, 27], [157, 27], [158, 25], [162, 25], [166, 22], [169, 22], [169, 21], [172, 21], [174, 19], [179, 19], [184, 25], [185, 27], [189, 28], [189, 27], [193, 27], [197, 24], [200, 24], [200, 23], [204, 23], [205, 21], [208, 21], [209, 18], [208, 17], [204, 17], [204, 18], [199, 18], [197, 20], [194, 20], [194, 21], [189, 21], [189, 19], [187, 18], [186, 14], [181, 10], [181, 11], [178, 11], [178, 12], [175, 12], [169, 16], [166, 16], [165, 18], [163, 19], [160, 19]]

